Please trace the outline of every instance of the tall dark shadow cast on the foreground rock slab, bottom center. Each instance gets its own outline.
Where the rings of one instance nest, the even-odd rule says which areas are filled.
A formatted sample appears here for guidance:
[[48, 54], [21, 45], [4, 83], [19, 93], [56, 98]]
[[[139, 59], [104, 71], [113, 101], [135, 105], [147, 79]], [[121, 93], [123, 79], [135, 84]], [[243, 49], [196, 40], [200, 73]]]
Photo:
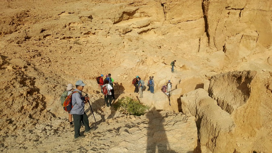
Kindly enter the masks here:
[[153, 115], [147, 115], [147, 152], [176, 153], [170, 149], [167, 135], [164, 129], [164, 117], [155, 108], [151, 109]]

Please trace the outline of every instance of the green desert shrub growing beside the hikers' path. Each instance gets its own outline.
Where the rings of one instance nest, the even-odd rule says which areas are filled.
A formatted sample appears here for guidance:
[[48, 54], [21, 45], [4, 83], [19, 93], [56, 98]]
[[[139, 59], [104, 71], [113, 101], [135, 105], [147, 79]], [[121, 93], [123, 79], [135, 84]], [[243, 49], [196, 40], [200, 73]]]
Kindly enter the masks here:
[[149, 109], [149, 106], [144, 106], [140, 101], [131, 97], [125, 97], [118, 100], [113, 104], [114, 108], [126, 115], [141, 116], [144, 115], [145, 110]]

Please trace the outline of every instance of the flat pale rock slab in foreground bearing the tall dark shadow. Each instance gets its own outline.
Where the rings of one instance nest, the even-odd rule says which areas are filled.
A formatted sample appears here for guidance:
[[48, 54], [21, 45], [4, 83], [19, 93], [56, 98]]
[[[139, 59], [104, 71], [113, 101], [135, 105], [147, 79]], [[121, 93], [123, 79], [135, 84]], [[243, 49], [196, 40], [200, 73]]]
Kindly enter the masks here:
[[197, 146], [194, 119], [168, 111], [146, 113], [135, 121], [138, 124], [127, 123], [118, 135], [108, 138], [116, 143], [108, 152], [193, 152]]

